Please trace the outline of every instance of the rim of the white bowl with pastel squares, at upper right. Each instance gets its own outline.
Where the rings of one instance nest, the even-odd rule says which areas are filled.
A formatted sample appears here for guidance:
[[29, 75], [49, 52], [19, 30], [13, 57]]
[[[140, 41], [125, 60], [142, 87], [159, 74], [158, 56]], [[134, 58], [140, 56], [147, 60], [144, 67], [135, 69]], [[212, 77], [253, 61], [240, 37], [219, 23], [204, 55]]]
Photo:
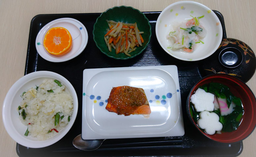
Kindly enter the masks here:
[[[203, 57], [197, 58], [197, 59], [189, 60], [188, 58], [181, 58], [181, 57], [175, 56], [175, 55], [173, 55], [172, 53], [168, 52], [168, 50], [165, 48], [165, 46], [164, 46], [164, 45], [162, 44], [162, 42], [160, 41], [160, 37], [159, 37], [158, 31], [157, 31], [157, 30], [158, 30], [158, 25], [159, 25], [159, 22], [160, 22], [160, 18], [162, 17], [162, 15], [164, 14], [164, 12], [169, 11], [169, 9], [170, 9], [173, 5], [178, 5], [178, 4], [195, 4], [195, 5], [198, 5], [198, 6], [202, 6], [202, 7], [206, 8], [207, 10], [211, 10], [210, 8], [208, 8], [207, 6], [205, 6], [204, 4], [200, 4], [200, 3], [194, 2], [194, 1], [180, 1], [180, 2], [176, 2], [176, 3], [170, 4], [169, 6], [167, 6], [167, 7], [160, 13], [160, 15], [158, 16], [157, 21], [156, 21], [156, 38], [157, 38], [158, 43], [160, 44], [160, 46], [164, 49], [164, 51], [165, 51], [167, 54], [169, 54], [169, 55], [171, 55], [172, 57], [177, 58], [177, 59], [179, 59], [179, 60], [183, 60], [183, 61], [200, 61], [200, 60], [203, 60], [203, 59], [205, 59], [205, 58], [211, 56], [211, 55], [218, 49], [218, 47], [219, 47], [220, 44], [219, 44], [219, 45], [216, 45], [216, 46], [214, 47], [214, 49], [211, 51], [211, 53], [209, 53], [209, 54], [207, 54], [207, 55], [205, 55], [205, 56], [203, 56]], [[212, 11], [212, 10], [211, 10], [211, 11]], [[213, 11], [212, 11], [212, 12], [213, 12]], [[215, 18], [216, 21], [218, 21], [218, 22], [220, 23], [220, 19], [217, 17], [217, 15], [215, 15], [215, 13], [214, 13], [213, 17]], [[220, 23], [220, 25], [221, 25], [221, 23]], [[223, 30], [220, 29], [219, 36], [221, 36], [221, 38], [219, 38], [218, 43], [221, 43], [222, 35], [223, 35], [222, 33], [223, 33]]]

